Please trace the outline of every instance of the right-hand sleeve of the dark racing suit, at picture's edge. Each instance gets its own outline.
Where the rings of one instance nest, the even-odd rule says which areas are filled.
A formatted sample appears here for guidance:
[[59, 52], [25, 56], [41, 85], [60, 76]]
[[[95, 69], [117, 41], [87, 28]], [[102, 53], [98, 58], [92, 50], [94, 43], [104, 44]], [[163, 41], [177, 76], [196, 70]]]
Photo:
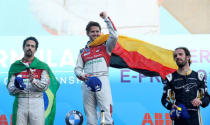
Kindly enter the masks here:
[[202, 107], [206, 107], [209, 104], [209, 94], [207, 91], [207, 83], [205, 80], [205, 75], [203, 73], [198, 73], [198, 79], [200, 81], [200, 86], [199, 89], [201, 90], [201, 92], [203, 93], [203, 97], [201, 98], [201, 102], [202, 102]]

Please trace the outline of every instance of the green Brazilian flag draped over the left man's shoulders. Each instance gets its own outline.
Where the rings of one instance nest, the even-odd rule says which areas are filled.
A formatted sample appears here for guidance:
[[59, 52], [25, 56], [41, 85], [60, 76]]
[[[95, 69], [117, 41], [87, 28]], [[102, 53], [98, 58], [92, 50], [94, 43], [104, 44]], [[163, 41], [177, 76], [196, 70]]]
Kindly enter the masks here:
[[[36, 57], [34, 58], [33, 62], [31, 63], [29, 67], [26, 67], [20, 61], [21, 60], [18, 60], [11, 65], [9, 69], [9, 74], [8, 74], [9, 75], [8, 81], [13, 74], [22, 72], [26, 70], [26, 68], [43, 69], [43, 70], [48, 71], [49, 76], [50, 76], [50, 84], [49, 84], [49, 88], [43, 94], [44, 104], [45, 104], [45, 125], [53, 125], [53, 122], [55, 119], [55, 111], [56, 111], [56, 92], [60, 86], [60, 83], [56, 80], [49, 66], [46, 63], [38, 60]], [[16, 125], [17, 108], [18, 108], [18, 99], [16, 96], [14, 104], [13, 104], [13, 114], [12, 114], [13, 125]]]

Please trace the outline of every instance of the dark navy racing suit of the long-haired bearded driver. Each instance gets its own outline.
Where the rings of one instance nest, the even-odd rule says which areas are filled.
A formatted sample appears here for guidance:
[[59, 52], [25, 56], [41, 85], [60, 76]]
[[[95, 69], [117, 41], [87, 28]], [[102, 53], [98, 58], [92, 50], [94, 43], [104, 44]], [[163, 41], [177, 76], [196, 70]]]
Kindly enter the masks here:
[[192, 101], [199, 98], [201, 106], [209, 104], [207, 84], [203, 73], [190, 70], [186, 75], [177, 71], [166, 76], [163, 80], [164, 90], [161, 102], [168, 110], [172, 105], [183, 104], [190, 115], [189, 119], [179, 118], [173, 121], [175, 125], [202, 125], [200, 108], [194, 107]]

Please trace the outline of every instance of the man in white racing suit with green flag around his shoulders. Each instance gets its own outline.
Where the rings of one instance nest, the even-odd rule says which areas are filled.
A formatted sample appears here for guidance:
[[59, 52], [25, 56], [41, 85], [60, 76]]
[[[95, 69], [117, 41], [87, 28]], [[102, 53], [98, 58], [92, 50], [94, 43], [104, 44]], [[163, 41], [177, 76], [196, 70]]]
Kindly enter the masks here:
[[[23, 42], [23, 59], [16, 61], [10, 67], [12, 73], [7, 88], [10, 95], [16, 96], [17, 103], [13, 105], [12, 120], [15, 125], [45, 124], [43, 91], [49, 86], [49, 75], [47, 70], [30, 68], [30, 65], [38, 60], [34, 57], [37, 48], [36, 38], [26, 38]], [[26, 68], [21, 69], [21, 67]]]

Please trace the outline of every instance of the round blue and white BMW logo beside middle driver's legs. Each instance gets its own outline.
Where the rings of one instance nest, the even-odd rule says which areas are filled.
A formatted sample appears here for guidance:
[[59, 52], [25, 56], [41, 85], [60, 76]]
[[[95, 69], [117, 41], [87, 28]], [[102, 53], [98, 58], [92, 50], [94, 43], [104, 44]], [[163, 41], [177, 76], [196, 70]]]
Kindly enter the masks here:
[[82, 113], [76, 110], [72, 110], [68, 112], [68, 114], [66, 115], [65, 121], [67, 125], [82, 125], [83, 123]]

